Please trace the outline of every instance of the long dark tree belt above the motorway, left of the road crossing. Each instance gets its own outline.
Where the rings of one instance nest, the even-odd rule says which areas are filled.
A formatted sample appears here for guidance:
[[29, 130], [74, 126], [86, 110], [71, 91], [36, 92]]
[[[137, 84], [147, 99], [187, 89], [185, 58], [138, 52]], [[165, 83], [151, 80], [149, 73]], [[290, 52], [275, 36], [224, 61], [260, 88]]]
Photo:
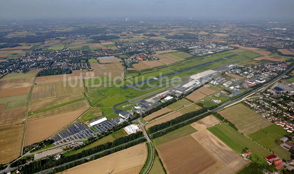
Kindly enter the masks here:
[[[136, 140], [136, 139], [142, 137], [142, 135], [143, 135], [142, 132], [133, 133], [131, 135], [115, 139], [112, 143], [107, 142], [105, 144], [101, 144], [96, 147], [83, 150], [82, 152], [74, 154], [74, 155], [65, 156], [65, 157], [63, 156], [59, 160], [55, 160], [54, 158], [45, 158], [45, 159], [41, 159], [41, 160], [36, 160], [36, 161], [33, 161], [33, 162], [28, 163], [26, 165], [23, 165], [21, 167], [21, 171], [23, 171], [23, 173], [37, 173], [41, 170], [45, 170], [45, 169], [52, 168], [52, 167], [55, 167], [58, 165], [62, 165], [64, 163], [67, 163], [67, 162], [70, 162], [73, 160], [78, 160], [83, 157], [89, 156], [91, 154], [94, 154], [94, 153], [97, 153], [97, 152], [100, 152], [103, 150], [107, 150], [109, 148], [114, 148], [117, 145], [127, 143], [131, 140]], [[133, 144], [133, 143], [131, 143], [131, 144]], [[121, 147], [117, 147], [117, 148], [121, 149]], [[114, 149], [117, 149], [117, 148], [114, 148]]]

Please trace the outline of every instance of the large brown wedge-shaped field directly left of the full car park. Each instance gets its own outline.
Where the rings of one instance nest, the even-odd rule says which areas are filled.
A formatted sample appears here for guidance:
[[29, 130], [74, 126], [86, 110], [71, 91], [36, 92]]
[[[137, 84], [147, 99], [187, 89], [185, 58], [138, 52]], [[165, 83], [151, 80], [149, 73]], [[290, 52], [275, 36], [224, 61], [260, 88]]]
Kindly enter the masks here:
[[27, 122], [24, 146], [45, 140], [75, 121], [87, 109], [71, 111]]

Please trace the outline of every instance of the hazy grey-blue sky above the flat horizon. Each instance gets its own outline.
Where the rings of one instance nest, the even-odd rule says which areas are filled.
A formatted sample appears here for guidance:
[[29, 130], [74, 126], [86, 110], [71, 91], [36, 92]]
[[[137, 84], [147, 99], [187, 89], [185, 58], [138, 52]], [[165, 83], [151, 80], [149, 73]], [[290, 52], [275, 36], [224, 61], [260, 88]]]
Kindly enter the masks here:
[[0, 0], [1, 19], [294, 19], [294, 0]]

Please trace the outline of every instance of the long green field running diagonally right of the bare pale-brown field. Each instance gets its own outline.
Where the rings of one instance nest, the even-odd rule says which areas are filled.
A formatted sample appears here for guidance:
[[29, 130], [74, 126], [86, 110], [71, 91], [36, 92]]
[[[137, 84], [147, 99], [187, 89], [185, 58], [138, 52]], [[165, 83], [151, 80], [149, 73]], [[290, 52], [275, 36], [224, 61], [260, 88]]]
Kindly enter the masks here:
[[237, 153], [240, 153], [243, 148], [248, 147], [249, 150], [252, 151], [253, 154], [258, 155], [260, 159], [272, 154], [226, 123], [213, 126], [208, 128], [208, 130]]

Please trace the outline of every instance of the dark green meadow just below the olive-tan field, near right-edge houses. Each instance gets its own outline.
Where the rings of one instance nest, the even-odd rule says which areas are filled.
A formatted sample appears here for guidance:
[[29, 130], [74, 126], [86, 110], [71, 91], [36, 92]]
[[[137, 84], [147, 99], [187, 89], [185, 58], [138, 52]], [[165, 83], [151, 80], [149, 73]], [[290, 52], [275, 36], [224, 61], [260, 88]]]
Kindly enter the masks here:
[[279, 140], [286, 134], [289, 133], [285, 131], [281, 126], [272, 124], [266, 128], [251, 133], [248, 136], [267, 148], [273, 148], [277, 145], [277, 143], [275, 143], [275, 140]]

